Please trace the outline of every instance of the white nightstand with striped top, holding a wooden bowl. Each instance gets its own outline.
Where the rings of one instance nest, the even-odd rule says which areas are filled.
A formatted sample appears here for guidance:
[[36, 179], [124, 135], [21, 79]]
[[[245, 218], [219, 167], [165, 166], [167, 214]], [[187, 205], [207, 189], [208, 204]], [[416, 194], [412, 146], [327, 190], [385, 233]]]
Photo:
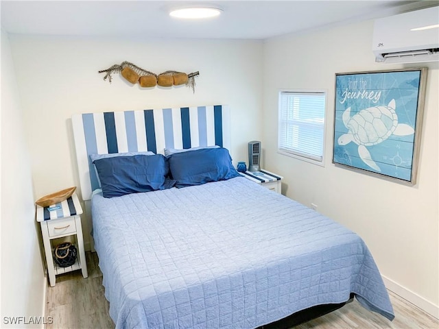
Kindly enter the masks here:
[[[48, 209], [57, 206], [58, 210]], [[50, 207], [36, 206], [36, 221], [41, 224], [41, 234], [47, 261], [47, 272], [49, 273], [50, 286], [54, 287], [58, 274], [82, 270], [82, 276], [88, 277], [87, 262], [84, 252], [84, 239], [82, 238], [81, 217], [82, 208], [78, 196], [73, 194], [67, 200]], [[56, 245], [52, 240], [72, 236], [73, 244], [78, 249], [75, 264], [69, 267], [59, 267], [54, 263], [54, 250]]]

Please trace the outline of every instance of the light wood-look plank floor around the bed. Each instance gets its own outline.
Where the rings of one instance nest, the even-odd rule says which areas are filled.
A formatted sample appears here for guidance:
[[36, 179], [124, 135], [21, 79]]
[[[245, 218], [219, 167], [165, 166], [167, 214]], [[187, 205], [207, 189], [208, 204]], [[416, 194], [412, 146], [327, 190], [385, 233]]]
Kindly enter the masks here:
[[[115, 328], [108, 315], [108, 301], [104, 297], [102, 272], [97, 254], [86, 252], [88, 278], [81, 271], [56, 277], [55, 287], [47, 287], [46, 317], [52, 317], [47, 329]], [[403, 298], [390, 292], [395, 319], [390, 322], [381, 315], [369, 312], [357, 300], [300, 326], [297, 329], [438, 329], [438, 319], [423, 312]], [[209, 329], [209, 328], [206, 328]]]

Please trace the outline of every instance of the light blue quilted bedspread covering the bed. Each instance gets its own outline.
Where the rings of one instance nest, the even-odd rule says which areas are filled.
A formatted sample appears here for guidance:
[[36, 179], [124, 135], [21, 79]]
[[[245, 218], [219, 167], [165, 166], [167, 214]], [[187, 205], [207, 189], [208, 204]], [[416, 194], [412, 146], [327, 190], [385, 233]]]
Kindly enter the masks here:
[[92, 199], [117, 328], [256, 328], [351, 292], [392, 305], [364, 241], [246, 178]]

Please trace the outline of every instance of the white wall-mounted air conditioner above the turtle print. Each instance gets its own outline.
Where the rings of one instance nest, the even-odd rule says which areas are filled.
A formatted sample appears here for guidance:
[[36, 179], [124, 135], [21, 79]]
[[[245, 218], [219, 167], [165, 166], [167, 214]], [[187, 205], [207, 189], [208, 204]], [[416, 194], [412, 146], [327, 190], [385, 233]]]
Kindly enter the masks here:
[[439, 6], [375, 20], [375, 62], [439, 61]]

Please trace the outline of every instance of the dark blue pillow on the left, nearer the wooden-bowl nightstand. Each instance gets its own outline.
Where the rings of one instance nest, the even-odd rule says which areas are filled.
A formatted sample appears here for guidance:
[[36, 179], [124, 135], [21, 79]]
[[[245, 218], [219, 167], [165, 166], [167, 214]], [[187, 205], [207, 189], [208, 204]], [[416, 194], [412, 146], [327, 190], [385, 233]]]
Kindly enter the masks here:
[[161, 154], [102, 158], [94, 163], [104, 197], [164, 190], [175, 183], [166, 180], [169, 164]]

